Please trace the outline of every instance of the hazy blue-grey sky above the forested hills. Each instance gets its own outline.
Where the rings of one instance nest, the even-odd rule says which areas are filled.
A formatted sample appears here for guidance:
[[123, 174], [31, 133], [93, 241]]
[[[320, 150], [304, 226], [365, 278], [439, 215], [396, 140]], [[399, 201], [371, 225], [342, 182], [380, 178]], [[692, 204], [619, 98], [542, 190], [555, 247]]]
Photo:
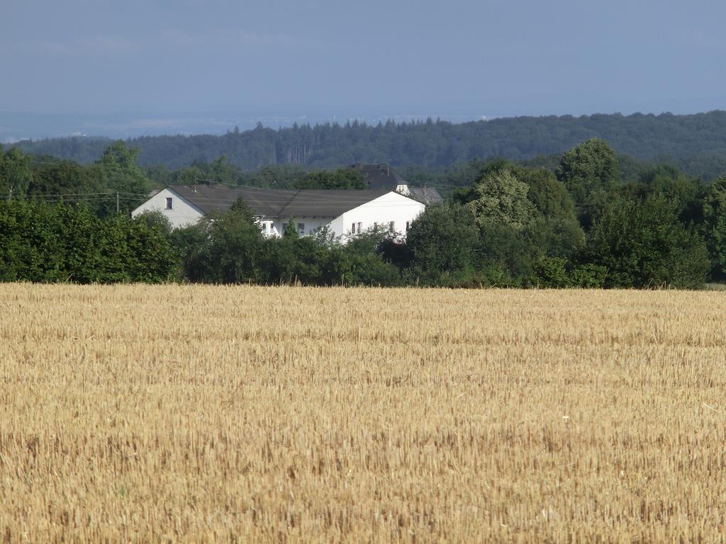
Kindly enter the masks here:
[[707, 0], [0, 0], [0, 141], [726, 109], [724, 20]]

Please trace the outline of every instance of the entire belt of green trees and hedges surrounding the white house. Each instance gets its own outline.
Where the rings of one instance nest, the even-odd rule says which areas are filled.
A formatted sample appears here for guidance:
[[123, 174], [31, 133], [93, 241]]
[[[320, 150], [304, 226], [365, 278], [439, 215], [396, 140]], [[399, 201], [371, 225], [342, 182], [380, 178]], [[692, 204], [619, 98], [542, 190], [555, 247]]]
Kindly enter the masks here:
[[[294, 228], [266, 239], [243, 202], [184, 229], [154, 214], [132, 221], [131, 206], [160, 176], [137, 158], [123, 141], [91, 165], [0, 152], [0, 279], [446, 287], [700, 287], [726, 279], [726, 177], [704, 184], [669, 163], [633, 169], [600, 139], [557, 162], [471, 160], [448, 171], [457, 188], [412, 223], [407, 239], [384, 229], [348, 244]], [[364, 186], [348, 168], [269, 168], [242, 173], [217, 157], [163, 175]], [[131, 195], [120, 213], [117, 194]]]

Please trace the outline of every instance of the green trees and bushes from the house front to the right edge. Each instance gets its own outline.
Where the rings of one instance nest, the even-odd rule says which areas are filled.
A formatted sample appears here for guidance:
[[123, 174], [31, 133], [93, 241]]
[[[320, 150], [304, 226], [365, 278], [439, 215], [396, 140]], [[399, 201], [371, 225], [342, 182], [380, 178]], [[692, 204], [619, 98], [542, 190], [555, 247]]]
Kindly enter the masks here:
[[658, 165], [624, 183], [598, 139], [555, 172], [502, 159], [470, 168], [473, 183], [425, 210], [405, 240], [381, 229], [343, 245], [294, 225], [265, 239], [240, 202], [169, 231], [179, 270], [215, 283], [442, 287], [696, 288], [725, 276], [726, 178], [705, 186]]

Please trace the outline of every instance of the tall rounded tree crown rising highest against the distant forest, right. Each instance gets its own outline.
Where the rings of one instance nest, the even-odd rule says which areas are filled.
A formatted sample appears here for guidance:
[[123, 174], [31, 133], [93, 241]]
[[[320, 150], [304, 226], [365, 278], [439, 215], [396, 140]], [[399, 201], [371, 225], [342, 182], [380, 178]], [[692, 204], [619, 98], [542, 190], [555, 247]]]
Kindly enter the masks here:
[[597, 138], [563, 154], [555, 174], [578, 205], [600, 204], [620, 178], [615, 152], [607, 142]]

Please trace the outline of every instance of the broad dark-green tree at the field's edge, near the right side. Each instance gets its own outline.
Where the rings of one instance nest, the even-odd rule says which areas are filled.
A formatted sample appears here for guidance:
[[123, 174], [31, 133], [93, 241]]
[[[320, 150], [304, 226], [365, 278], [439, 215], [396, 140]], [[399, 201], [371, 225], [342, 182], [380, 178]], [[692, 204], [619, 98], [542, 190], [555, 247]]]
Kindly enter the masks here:
[[664, 197], [609, 202], [583, 257], [607, 269], [605, 287], [699, 287], [709, 271], [703, 240]]

